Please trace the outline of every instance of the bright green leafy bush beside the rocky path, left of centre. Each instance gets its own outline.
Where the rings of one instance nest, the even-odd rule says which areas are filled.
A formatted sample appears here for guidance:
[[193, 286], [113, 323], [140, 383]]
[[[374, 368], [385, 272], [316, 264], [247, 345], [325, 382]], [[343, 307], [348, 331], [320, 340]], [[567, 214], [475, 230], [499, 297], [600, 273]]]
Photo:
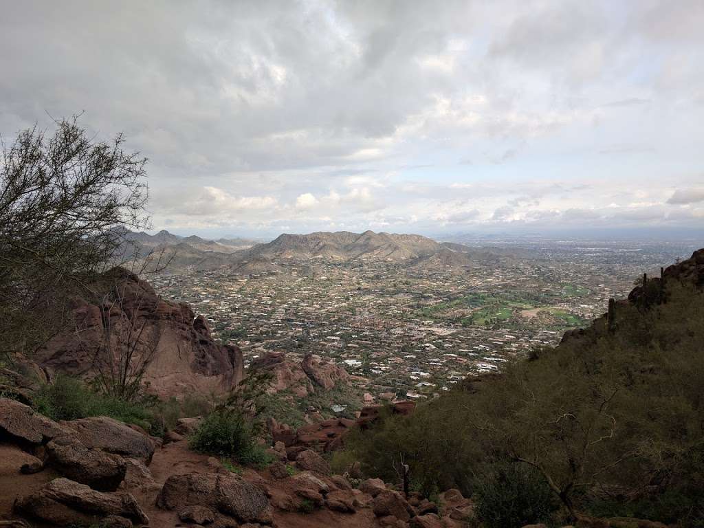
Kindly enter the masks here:
[[199, 453], [235, 458], [244, 465], [266, 467], [272, 457], [256, 444], [253, 424], [237, 410], [216, 410], [201, 422], [189, 438]]

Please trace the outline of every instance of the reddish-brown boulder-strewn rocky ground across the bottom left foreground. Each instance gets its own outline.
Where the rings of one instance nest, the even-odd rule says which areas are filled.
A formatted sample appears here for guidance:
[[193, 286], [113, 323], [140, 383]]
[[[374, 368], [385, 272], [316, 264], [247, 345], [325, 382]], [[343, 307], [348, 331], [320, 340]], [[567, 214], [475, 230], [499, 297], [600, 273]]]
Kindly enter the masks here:
[[432, 503], [379, 479], [354, 488], [318, 453], [282, 442], [266, 470], [235, 474], [189, 451], [196, 423], [182, 419], [162, 440], [108, 417], [54, 422], [0, 399], [0, 526], [449, 528], [472, 513], [456, 490]]

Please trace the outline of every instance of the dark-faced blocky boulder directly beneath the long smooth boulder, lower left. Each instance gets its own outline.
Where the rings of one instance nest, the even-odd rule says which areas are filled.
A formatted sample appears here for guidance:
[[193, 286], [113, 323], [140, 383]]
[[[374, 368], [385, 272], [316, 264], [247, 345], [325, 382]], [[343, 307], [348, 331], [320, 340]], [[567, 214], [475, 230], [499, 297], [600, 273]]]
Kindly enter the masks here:
[[64, 477], [98, 491], [115, 491], [127, 472], [121, 456], [88, 449], [77, 441], [52, 440], [46, 444], [46, 453], [48, 464]]

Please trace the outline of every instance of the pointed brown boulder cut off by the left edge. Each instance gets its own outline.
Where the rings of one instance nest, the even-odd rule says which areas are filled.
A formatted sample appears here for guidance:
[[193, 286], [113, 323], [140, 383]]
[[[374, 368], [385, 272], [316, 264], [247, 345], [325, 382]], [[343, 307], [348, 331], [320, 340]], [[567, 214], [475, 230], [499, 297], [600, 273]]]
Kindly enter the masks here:
[[54, 420], [34, 413], [24, 403], [0, 398], [0, 439], [25, 445], [41, 445], [66, 431]]

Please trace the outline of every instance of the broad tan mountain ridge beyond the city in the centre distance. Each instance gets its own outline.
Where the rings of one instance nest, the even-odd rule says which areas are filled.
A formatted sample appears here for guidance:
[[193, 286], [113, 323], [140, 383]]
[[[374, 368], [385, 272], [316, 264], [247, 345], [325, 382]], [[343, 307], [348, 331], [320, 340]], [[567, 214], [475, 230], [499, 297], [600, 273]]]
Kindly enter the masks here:
[[316, 232], [282, 234], [268, 244], [258, 244], [243, 258], [329, 258], [334, 260], [409, 260], [447, 251], [419, 234]]

